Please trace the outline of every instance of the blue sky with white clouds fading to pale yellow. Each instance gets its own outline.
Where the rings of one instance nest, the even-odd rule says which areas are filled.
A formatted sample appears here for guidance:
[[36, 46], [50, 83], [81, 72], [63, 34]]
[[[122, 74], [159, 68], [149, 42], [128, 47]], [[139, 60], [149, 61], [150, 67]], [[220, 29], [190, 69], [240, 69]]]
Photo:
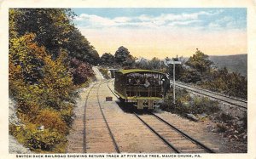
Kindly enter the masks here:
[[79, 31], [102, 55], [120, 46], [133, 56], [247, 54], [245, 8], [87, 8], [73, 9]]

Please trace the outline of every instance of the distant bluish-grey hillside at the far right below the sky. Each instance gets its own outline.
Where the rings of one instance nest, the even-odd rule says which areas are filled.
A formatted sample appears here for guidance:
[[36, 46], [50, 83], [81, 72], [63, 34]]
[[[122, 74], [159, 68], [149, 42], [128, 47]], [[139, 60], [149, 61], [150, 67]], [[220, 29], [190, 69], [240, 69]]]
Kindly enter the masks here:
[[247, 54], [210, 56], [209, 60], [212, 60], [218, 68], [225, 66], [229, 71], [235, 71], [247, 77]]

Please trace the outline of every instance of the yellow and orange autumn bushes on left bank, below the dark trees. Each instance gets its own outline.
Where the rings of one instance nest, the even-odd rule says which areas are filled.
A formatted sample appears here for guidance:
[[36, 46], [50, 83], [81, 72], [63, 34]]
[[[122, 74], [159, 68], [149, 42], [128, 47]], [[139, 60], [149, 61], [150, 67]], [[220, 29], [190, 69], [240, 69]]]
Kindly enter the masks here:
[[[64, 51], [52, 60], [44, 47], [34, 43], [34, 38], [34, 34], [27, 34], [12, 38], [9, 43], [9, 93], [18, 102], [18, 114], [28, 127], [12, 129], [12, 133], [17, 133], [16, 138], [32, 150], [52, 150], [65, 142], [62, 133], [67, 133], [64, 113], [53, 109], [67, 111], [64, 101], [70, 98], [73, 82], [64, 65]], [[44, 108], [51, 108], [52, 112]], [[32, 123], [43, 124], [47, 129], [40, 132], [28, 126]]]

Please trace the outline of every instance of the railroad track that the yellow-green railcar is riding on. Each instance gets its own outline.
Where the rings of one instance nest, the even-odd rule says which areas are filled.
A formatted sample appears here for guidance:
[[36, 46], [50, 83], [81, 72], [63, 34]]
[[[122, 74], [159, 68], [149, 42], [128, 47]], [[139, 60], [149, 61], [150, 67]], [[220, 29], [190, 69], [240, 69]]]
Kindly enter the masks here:
[[[119, 98], [109, 86], [108, 88], [113, 95]], [[207, 145], [192, 138], [153, 112], [148, 111], [148, 115], [143, 114], [143, 116], [138, 115], [136, 111], [131, 110], [131, 112], [176, 153], [215, 153]]]

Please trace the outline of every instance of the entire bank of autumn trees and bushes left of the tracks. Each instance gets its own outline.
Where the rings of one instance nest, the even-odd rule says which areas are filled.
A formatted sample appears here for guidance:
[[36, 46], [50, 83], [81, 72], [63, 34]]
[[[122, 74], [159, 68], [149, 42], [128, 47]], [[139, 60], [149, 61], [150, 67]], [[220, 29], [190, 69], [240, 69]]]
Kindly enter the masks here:
[[9, 97], [20, 119], [9, 133], [36, 152], [65, 152], [75, 89], [99, 60], [73, 17], [70, 9], [9, 9]]

